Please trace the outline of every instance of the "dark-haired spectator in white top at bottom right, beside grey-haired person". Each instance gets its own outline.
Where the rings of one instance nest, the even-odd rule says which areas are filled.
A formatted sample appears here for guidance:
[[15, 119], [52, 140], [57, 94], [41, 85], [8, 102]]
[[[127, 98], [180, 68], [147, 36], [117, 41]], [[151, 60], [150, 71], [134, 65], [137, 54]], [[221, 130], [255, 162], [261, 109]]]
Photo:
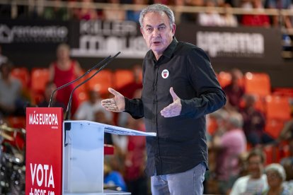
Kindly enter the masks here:
[[230, 195], [262, 194], [268, 189], [267, 176], [264, 174], [265, 155], [261, 150], [252, 150], [247, 158], [248, 175], [239, 177]]

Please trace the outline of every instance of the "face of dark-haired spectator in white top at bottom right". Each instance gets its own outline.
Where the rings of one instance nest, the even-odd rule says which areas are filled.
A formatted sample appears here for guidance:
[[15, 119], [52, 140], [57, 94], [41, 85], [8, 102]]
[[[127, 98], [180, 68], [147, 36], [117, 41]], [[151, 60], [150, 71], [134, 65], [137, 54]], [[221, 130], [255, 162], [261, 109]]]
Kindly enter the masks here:
[[263, 162], [258, 155], [251, 156], [248, 160], [248, 171], [253, 179], [258, 179], [263, 174]]

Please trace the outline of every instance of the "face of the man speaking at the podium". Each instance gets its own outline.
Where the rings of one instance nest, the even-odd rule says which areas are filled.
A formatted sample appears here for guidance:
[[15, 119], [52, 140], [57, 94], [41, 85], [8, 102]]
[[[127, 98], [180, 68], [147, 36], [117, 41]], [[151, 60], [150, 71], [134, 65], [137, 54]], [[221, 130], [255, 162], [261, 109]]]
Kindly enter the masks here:
[[156, 59], [159, 59], [172, 42], [176, 25], [170, 26], [166, 13], [154, 12], [146, 13], [142, 23], [143, 27], [140, 30], [146, 45], [154, 52]]

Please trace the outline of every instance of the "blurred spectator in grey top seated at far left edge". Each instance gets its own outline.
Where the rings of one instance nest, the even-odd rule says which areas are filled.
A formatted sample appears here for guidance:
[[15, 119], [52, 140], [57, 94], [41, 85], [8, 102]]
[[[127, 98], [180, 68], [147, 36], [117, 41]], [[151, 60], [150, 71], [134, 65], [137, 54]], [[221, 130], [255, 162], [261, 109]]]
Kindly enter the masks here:
[[24, 115], [21, 81], [11, 76], [11, 69], [12, 65], [7, 62], [0, 66], [0, 113], [4, 116]]

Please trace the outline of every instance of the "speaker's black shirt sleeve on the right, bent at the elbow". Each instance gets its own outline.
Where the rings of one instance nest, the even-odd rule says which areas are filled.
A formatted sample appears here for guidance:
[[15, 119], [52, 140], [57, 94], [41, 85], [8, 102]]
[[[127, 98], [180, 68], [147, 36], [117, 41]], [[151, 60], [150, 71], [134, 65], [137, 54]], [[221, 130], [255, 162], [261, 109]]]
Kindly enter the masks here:
[[181, 100], [181, 115], [198, 118], [219, 110], [226, 104], [224, 90], [217, 81], [209, 57], [202, 49], [192, 49], [188, 55], [187, 72], [197, 97]]

